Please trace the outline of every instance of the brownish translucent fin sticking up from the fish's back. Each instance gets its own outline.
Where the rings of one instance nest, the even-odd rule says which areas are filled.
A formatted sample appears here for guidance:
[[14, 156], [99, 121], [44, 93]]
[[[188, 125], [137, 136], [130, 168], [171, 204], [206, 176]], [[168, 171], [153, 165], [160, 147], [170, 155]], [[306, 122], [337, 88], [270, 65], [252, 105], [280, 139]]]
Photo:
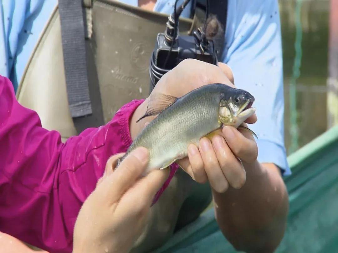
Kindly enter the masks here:
[[177, 99], [178, 98], [175, 96], [162, 93], [155, 93], [150, 95], [146, 113], [136, 122], [139, 122], [141, 119], [144, 119], [146, 117], [160, 114], [173, 103], [175, 103]]

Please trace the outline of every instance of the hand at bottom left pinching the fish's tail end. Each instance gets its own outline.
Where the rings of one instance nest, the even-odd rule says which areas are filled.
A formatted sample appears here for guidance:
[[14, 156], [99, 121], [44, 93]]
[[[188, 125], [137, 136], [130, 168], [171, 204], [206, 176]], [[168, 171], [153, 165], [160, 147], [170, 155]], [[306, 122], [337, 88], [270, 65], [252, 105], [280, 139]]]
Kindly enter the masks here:
[[142, 233], [156, 192], [169, 170], [140, 178], [148, 163], [144, 147], [108, 159], [96, 189], [83, 203], [75, 222], [73, 252], [128, 252]]

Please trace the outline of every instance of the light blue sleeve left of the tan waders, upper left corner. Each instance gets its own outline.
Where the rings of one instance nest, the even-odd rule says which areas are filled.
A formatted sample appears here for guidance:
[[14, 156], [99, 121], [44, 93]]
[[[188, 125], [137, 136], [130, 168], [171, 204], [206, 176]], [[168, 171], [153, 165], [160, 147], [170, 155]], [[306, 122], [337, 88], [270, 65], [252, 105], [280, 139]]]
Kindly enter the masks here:
[[0, 75], [16, 89], [57, 0], [0, 1]]

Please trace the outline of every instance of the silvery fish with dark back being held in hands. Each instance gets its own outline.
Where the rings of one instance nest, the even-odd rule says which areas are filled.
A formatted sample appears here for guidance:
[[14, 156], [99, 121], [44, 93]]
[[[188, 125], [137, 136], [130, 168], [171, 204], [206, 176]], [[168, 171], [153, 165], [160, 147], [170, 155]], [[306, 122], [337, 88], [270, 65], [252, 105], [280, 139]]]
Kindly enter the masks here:
[[179, 98], [151, 94], [146, 113], [137, 121], [158, 116], [135, 138], [117, 166], [129, 153], [142, 146], [149, 152], [143, 175], [165, 169], [187, 157], [190, 144], [198, 146], [201, 138], [212, 136], [224, 125], [245, 128], [242, 123], [256, 111], [252, 107], [254, 101], [249, 92], [220, 83], [201, 86]]

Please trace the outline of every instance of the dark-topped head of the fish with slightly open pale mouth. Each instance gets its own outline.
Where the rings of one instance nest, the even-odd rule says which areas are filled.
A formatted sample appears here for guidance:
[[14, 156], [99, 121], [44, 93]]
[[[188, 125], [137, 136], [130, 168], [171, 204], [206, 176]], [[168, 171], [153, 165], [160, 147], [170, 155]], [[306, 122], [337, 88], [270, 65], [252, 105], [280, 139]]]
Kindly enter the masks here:
[[256, 111], [255, 97], [249, 92], [230, 88], [220, 94], [219, 120], [223, 125], [238, 127]]

